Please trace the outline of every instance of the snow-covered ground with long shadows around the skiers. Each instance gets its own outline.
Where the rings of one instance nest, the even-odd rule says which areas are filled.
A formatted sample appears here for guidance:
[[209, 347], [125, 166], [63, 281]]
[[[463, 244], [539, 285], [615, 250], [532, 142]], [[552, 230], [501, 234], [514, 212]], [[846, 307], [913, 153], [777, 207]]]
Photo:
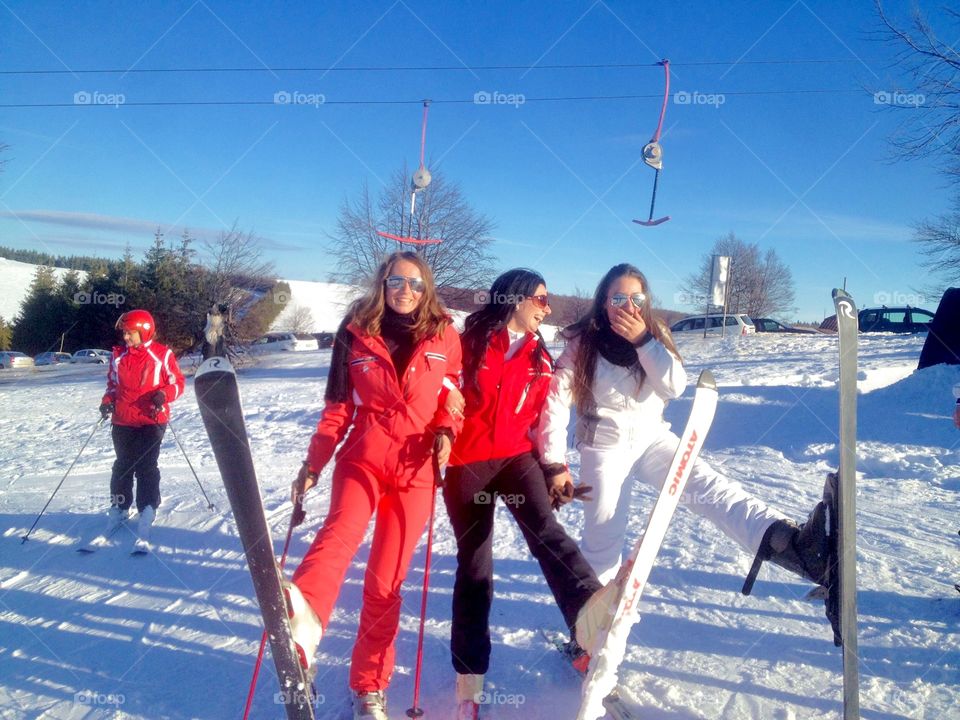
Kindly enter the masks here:
[[[858, 520], [862, 715], [958, 717], [960, 490], [950, 421], [956, 367], [914, 372], [922, 336], [861, 336]], [[705, 452], [756, 495], [800, 519], [837, 460], [837, 344], [829, 335], [682, 338], [691, 377], [721, 386]], [[278, 554], [290, 480], [304, 456], [326, 382], [329, 350], [263, 358], [241, 372], [251, 445]], [[94, 555], [74, 551], [101, 526], [113, 461], [98, 431], [26, 544], [20, 538], [98, 417], [104, 370], [0, 373], [0, 717], [239, 718], [260, 639], [260, 616], [240, 543], [193, 396], [174, 427], [216, 505], [207, 509], [174, 438], [161, 454], [163, 505], [155, 555], [131, 557], [129, 532]], [[191, 384], [192, 385], [192, 384]], [[681, 424], [692, 391], [668, 409]], [[571, 452], [571, 465], [577, 457]], [[295, 566], [323, 518], [330, 469], [294, 533]], [[641, 531], [653, 494], [634, 491]], [[538, 628], [559, 611], [506, 511], [497, 519], [489, 719], [567, 720], [578, 681]], [[563, 521], [578, 534], [580, 511]], [[450, 718], [448, 638], [455, 538], [440, 503], [429, 595], [421, 704]], [[347, 673], [366, 549], [359, 553], [321, 645], [318, 716], [349, 717]], [[639, 718], [839, 717], [841, 657], [809, 587], [765, 567], [754, 594], [739, 589], [752, 558], [681, 508], [667, 534], [621, 670]], [[398, 667], [388, 698], [405, 717], [422, 582], [423, 547], [404, 598]], [[267, 660], [252, 717], [281, 718]]]

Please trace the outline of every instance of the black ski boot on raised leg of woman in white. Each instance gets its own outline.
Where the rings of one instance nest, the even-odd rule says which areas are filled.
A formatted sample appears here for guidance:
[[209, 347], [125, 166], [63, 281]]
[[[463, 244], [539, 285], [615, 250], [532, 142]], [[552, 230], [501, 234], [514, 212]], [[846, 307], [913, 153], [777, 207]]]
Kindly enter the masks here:
[[777, 520], [763, 534], [760, 548], [741, 592], [749, 595], [765, 560], [789, 570], [820, 587], [811, 597], [822, 597], [826, 615], [839, 645], [840, 607], [837, 587], [837, 489], [836, 473], [828, 473], [823, 500], [817, 503], [803, 525]]

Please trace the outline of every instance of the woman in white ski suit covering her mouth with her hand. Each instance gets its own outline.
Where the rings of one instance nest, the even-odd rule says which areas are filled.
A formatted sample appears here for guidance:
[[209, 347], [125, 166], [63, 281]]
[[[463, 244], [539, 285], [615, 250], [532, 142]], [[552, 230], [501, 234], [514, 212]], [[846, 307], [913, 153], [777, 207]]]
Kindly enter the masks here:
[[[593, 487], [593, 501], [584, 503], [581, 550], [602, 583], [620, 567], [633, 482], [659, 490], [680, 442], [663, 410], [683, 393], [687, 374], [670, 331], [653, 318], [649, 297], [635, 267], [617, 265], [607, 273], [588, 315], [564, 331], [567, 346], [540, 420], [541, 462], [565, 463], [570, 408], [578, 408], [580, 483]], [[589, 363], [591, 347], [594, 367], [590, 372], [588, 364], [580, 375], [587, 392], [577, 393], [577, 363]], [[800, 552], [797, 566], [800, 528], [704, 460], [694, 464], [681, 503], [751, 554], [819, 582], [820, 571], [808, 570], [806, 553]]]

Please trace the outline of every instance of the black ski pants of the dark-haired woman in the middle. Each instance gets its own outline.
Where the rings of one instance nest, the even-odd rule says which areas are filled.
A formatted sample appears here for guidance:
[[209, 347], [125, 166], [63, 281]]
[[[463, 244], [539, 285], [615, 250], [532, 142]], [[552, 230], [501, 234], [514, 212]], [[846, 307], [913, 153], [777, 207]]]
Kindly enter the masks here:
[[540, 563], [567, 627], [574, 627], [577, 613], [601, 587], [557, 521], [533, 453], [448, 468], [443, 499], [457, 537], [450, 652], [458, 673], [484, 674], [490, 665], [493, 519], [498, 498]]

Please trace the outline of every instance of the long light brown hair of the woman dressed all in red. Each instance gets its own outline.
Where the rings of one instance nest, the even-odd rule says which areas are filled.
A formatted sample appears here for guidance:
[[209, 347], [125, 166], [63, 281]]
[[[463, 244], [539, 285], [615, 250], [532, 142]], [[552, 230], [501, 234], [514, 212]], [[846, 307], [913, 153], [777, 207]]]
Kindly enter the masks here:
[[367, 335], [379, 335], [380, 324], [387, 307], [386, 279], [394, 263], [406, 260], [413, 263], [420, 271], [423, 279], [423, 295], [413, 311], [414, 319], [412, 331], [414, 339], [419, 342], [424, 338], [442, 335], [443, 329], [450, 324], [450, 316], [440, 302], [437, 295], [437, 286], [433, 280], [430, 266], [417, 253], [410, 251], [395, 252], [384, 258], [370, 281], [366, 294], [355, 300], [347, 311], [347, 319], [363, 330]]

